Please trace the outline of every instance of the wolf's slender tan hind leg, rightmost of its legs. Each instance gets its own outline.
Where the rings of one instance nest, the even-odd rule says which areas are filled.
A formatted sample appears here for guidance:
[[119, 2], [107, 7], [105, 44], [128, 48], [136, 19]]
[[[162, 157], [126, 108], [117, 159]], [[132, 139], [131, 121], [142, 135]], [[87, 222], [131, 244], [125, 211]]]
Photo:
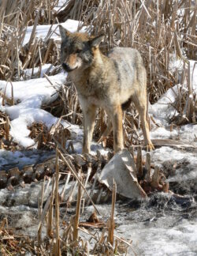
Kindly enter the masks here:
[[151, 142], [149, 126], [147, 123], [147, 93], [145, 93], [143, 96], [135, 95], [132, 97], [132, 100], [136, 106], [137, 111], [139, 111], [143, 129], [144, 144], [147, 145], [150, 150], [152, 150], [154, 149], [154, 145]]

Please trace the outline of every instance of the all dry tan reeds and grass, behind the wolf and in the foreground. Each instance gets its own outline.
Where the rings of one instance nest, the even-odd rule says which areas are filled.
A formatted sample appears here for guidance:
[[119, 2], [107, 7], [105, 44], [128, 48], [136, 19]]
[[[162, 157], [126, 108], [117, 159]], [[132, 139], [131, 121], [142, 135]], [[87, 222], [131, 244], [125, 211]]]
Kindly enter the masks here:
[[[56, 66], [56, 69], [46, 75], [53, 75], [60, 70], [59, 64], [59, 45], [50, 38], [51, 30], [45, 39], [36, 38], [35, 28], [39, 24], [54, 24], [66, 21], [68, 18], [80, 20], [81, 26], [87, 25], [88, 32], [92, 35], [104, 34], [105, 42], [102, 44], [102, 51], [106, 52], [111, 47], [134, 47], [138, 49], [143, 56], [147, 68], [147, 89], [150, 102], [156, 102], [164, 92], [173, 85], [180, 84], [180, 93], [177, 95], [177, 101], [174, 104], [179, 115], [172, 120], [177, 125], [183, 125], [188, 122], [195, 123], [197, 119], [196, 92], [192, 88], [192, 79], [190, 77], [191, 68], [188, 64], [188, 58], [197, 60], [196, 52], [196, 11], [195, 1], [142, 1], [142, 0], [109, 0], [109, 1], [73, 1], [68, 0], [60, 12], [54, 11], [54, 6], [58, 5], [58, 0], [43, 1], [0, 1], [0, 79], [19, 81], [26, 79], [25, 70], [39, 67], [39, 77], [42, 65], [50, 63]], [[26, 45], [23, 45], [24, 35], [27, 26], [33, 26], [32, 36]], [[172, 69], [171, 61], [173, 58], [180, 59], [183, 66], [180, 69]], [[33, 73], [33, 72], [32, 72]], [[33, 78], [33, 76], [32, 76]], [[6, 98], [6, 92], [1, 92], [4, 104], [15, 104], [14, 96], [12, 99]], [[61, 88], [59, 98], [50, 106], [43, 106], [53, 115], [64, 118], [73, 124], [82, 124], [83, 116], [78, 103], [76, 90], [69, 82]], [[153, 119], [151, 119], [154, 121]], [[151, 126], [156, 125], [149, 121]], [[6, 116], [2, 117], [0, 131], [2, 137], [10, 140], [9, 121]], [[99, 110], [96, 126], [95, 138], [99, 140], [103, 131], [106, 129], [106, 113]], [[132, 106], [124, 115], [125, 127], [125, 145], [140, 145], [138, 129], [140, 126], [139, 115]], [[64, 130], [56, 127], [52, 135], [43, 124], [33, 124], [32, 137], [39, 142], [42, 148], [47, 143], [50, 145], [51, 138], [58, 145], [58, 148], [65, 148]], [[58, 130], [59, 129], [59, 130]], [[57, 133], [56, 133], [57, 132]], [[41, 134], [41, 135], [39, 135]], [[67, 134], [68, 135], [68, 134]], [[42, 138], [42, 139], [41, 139]], [[102, 140], [103, 146], [112, 146], [112, 135]], [[2, 143], [1, 143], [2, 145]], [[71, 145], [72, 147], [72, 145]], [[6, 148], [6, 147], [5, 147]], [[24, 254], [28, 250], [32, 254], [114, 254], [121, 248], [123, 252], [130, 243], [113, 235], [113, 212], [115, 204], [115, 192], [113, 193], [113, 207], [108, 228], [104, 229], [102, 235], [95, 236], [91, 232], [85, 231], [80, 227], [80, 204], [81, 189], [84, 191], [84, 183], [80, 173], [76, 175], [79, 186], [79, 197], [76, 207], [76, 215], [69, 223], [60, 223], [59, 219], [59, 197], [58, 197], [58, 163], [59, 159], [68, 165], [72, 175], [76, 175], [75, 170], [66, 162], [62, 152], [57, 150], [56, 175], [53, 181], [53, 193], [43, 208], [43, 201], [39, 205], [39, 229], [38, 239], [36, 241], [26, 240], [23, 237], [13, 235], [9, 230], [6, 220], [0, 225], [1, 235], [1, 253]], [[147, 157], [147, 165], [150, 164]], [[137, 168], [142, 171], [142, 159], [140, 150], [137, 156]], [[151, 168], [150, 166], [147, 168]], [[153, 186], [162, 186], [161, 190], [167, 190], [165, 184], [158, 184], [158, 170], [154, 170], [153, 181], [148, 181], [141, 185], [144, 190], [151, 190]], [[140, 177], [139, 177], [140, 178]], [[139, 180], [140, 182], [140, 180]], [[152, 183], [151, 183], [152, 182]], [[151, 183], [151, 185], [150, 185]], [[115, 190], [115, 185], [114, 185]], [[113, 191], [114, 191], [113, 190]], [[44, 191], [43, 191], [44, 193]], [[53, 214], [53, 204], [55, 198], [55, 215]], [[42, 197], [41, 197], [42, 199]], [[47, 239], [42, 240], [41, 231], [45, 224], [47, 227]], [[55, 226], [53, 225], [55, 223]], [[63, 235], [59, 235], [59, 228], [64, 226]], [[109, 228], [110, 227], [110, 228]], [[87, 232], [91, 239], [95, 239], [95, 247], [90, 251], [89, 243], [84, 244], [78, 231]], [[113, 246], [114, 243], [114, 246]], [[124, 244], [124, 246], [122, 246]]]

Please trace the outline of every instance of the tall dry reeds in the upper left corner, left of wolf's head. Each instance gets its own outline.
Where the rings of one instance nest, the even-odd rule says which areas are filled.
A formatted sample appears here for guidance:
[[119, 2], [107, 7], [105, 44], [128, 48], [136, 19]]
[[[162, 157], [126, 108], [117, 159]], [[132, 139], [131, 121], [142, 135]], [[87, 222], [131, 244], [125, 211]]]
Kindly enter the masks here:
[[[58, 48], [50, 40], [50, 31], [45, 40], [35, 37], [38, 24], [54, 23], [53, 1], [0, 1], [0, 79], [20, 80], [23, 70], [46, 62], [58, 63]], [[25, 32], [33, 25], [31, 38], [23, 46]]]

